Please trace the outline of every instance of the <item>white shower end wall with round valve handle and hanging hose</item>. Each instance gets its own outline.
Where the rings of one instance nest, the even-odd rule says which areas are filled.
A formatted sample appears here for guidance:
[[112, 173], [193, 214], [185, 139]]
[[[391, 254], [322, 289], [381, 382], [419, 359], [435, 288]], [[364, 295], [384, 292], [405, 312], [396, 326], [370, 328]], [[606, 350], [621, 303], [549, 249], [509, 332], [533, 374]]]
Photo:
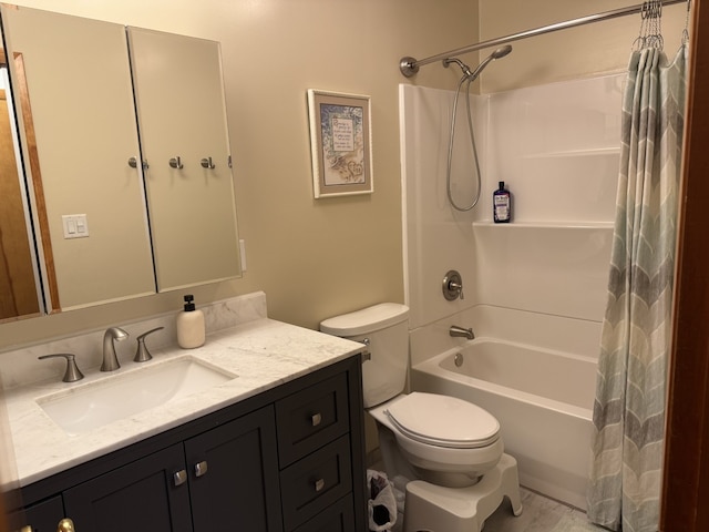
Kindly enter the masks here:
[[[485, 165], [486, 99], [472, 96], [475, 139]], [[404, 294], [409, 326], [415, 329], [470, 307], [476, 300], [472, 222], [486, 198], [469, 212], [454, 211], [446, 195], [449, 122], [453, 93], [400, 86], [401, 153], [404, 190]], [[460, 205], [469, 205], [476, 191], [474, 163], [465, 117], [459, 105], [451, 190]], [[450, 269], [463, 278], [465, 299], [448, 301], [442, 282]]]

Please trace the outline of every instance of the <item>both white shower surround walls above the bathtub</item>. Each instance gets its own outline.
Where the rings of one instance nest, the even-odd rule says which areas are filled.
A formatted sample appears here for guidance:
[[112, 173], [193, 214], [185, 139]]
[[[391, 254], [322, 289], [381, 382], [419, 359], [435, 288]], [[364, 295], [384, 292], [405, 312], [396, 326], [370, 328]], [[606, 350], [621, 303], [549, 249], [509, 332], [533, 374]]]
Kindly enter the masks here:
[[[475, 305], [600, 323], [621, 84], [621, 75], [612, 75], [479, 96], [483, 193], [479, 206], [464, 214], [445, 200], [452, 93], [402, 88], [405, 291], [412, 329]], [[456, 135], [464, 134], [458, 129]], [[455, 146], [454, 157], [467, 165], [454, 168], [455, 182], [471, 180], [465, 147]], [[491, 222], [499, 181], [513, 192], [511, 224]], [[464, 300], [443, 298], [448, 269], [462, 274]]]

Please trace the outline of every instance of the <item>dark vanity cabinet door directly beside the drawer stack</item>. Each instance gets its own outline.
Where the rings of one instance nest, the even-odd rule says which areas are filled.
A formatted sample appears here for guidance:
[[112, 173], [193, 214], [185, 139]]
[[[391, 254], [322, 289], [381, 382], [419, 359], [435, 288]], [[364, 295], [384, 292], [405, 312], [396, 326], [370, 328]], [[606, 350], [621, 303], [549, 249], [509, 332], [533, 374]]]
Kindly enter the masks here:
[[185, 442], [195, 531], [280, 532], [273, 407]]

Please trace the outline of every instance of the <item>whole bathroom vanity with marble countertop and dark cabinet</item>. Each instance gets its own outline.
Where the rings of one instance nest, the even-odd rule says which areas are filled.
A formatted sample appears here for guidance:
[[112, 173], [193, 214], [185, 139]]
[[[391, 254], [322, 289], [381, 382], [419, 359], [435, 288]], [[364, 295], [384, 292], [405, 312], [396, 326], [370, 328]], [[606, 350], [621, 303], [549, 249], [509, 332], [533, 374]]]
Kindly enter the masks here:
[[[25, 522], [38, 532], [64, 518], [78, 532], [366, 530], [360, 348], [259, 318], [198, 349], [122, 361], [122, 375], [94, 368], [75, 383], [9, 390]], [[48, 397], [175, 359], [233, 378], [102, 427], [62, 428], [44, 410]]]

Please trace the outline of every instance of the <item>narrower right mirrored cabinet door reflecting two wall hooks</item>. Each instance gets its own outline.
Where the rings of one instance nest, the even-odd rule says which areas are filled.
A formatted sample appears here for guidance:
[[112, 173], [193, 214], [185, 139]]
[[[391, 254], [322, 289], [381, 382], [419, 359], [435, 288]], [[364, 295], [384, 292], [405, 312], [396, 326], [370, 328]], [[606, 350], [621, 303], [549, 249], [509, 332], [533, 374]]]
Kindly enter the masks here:
[[129, 28], [160, 291], [238, 273], [219, 43]]

